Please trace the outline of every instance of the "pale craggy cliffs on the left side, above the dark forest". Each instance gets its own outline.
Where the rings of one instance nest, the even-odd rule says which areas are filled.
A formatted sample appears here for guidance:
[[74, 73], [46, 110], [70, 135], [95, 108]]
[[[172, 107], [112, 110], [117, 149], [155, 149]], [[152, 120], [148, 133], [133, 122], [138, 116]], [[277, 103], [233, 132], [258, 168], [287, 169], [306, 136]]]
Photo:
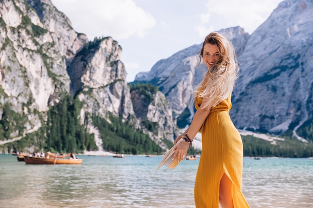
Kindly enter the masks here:
[[[0, 144], [36, 132], [64, 94], [83, 103], [81, 125], [94, 135], [99, 150], [101, 135], [92, 124], [93, 115], [113, 115], [140, 128], [142, 118], [134, 113], [121, 46], [115, 40], [89, 41], [50, 0], [0, 3], [0, 134], [6, 135]], [[161, 139], [173, 139], [175, 123], [161, 92], [148, 104], [147, 114], [145, 119], [160, 122], [162, 131], [144, 131], [164, 146]]]

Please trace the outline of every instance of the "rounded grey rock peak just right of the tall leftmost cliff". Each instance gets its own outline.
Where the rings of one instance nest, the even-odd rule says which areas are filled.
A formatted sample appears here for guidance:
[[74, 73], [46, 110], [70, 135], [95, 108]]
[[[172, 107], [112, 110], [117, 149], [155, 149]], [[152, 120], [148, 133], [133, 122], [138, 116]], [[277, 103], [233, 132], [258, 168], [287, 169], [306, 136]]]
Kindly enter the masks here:
[[107, 112], [125, 120], [133, 115], [121, 47], [111, 37], [88, 43], [71, 60], [67, 72], [70, 92], [84, 101], [83, 110], [105, 117]]

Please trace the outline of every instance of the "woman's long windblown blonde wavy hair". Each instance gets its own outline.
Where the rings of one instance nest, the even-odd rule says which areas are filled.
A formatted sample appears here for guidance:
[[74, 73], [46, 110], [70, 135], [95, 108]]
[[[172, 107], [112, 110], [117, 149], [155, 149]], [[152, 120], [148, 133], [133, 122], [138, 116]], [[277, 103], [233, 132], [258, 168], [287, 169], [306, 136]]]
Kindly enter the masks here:
[[205, 44], [216, 45], [219, 52], [219, 60], [208, 68], [202, 81], [196, 87], [193, 98], [202, 98], [201, 107], [215, 107], [226, 99], [233, 90], [234, 82], [238, 77], [239, 66], [235, 57], [234, 47], [229, 40], [218, 32], [209, 33], [199, 52], [199, 63], [203, 59], [203, 47]]

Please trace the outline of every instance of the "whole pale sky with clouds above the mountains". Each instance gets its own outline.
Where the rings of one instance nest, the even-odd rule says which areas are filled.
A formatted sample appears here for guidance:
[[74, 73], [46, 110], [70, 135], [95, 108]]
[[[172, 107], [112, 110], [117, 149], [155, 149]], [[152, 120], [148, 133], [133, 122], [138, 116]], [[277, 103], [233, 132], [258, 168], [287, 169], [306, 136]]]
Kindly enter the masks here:
[[240, 26], [251, 34], [282, 0], [51, 1], [89, 40], [116, 40], [126, 80], [132, 82], [158, 60], [200, 44], [209, 32]]

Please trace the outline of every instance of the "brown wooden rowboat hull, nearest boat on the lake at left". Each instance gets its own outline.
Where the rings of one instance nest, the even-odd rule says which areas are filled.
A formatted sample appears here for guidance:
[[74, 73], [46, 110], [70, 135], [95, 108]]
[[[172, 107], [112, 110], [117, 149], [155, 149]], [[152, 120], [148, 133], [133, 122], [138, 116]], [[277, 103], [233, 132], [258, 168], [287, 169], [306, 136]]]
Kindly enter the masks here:
[[71, 165], [71, 164], [81, 164], [82, 159], [64, 159], [64, 158], [37, 158], [24, 156], [24, 161], [26, 164], [47, 164], [47, 165]]

